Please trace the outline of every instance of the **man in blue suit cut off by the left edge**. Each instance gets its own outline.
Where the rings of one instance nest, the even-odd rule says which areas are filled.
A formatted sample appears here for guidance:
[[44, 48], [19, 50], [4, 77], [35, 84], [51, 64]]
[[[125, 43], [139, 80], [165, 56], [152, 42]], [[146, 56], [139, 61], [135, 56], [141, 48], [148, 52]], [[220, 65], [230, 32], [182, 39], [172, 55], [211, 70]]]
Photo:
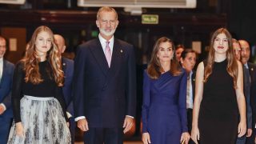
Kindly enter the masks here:
[[3, 59], [6, 53], [6, 39], [0, 36], [0, 144], [6, 144], [13, 118], [10, 90], [14, 64]]

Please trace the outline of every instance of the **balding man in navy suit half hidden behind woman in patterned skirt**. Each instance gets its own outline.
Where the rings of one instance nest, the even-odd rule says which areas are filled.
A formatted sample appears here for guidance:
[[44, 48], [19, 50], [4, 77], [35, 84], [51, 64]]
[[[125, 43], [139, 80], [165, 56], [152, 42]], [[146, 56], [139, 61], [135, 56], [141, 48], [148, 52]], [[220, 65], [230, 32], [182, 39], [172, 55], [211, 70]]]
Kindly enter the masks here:
[[[66, 50], [65, 39], [59, 35], [54, 34], [55, 43], [58, 46], [59, 54], [62, 57], [62, 53]], [[74, 122], [74, 106], [72, 98], [72, 80], [74, 72], [74, 61], [69, 58], [62, 57], [62, 69], [64, 71], [64, 86], [62, 87], [63, 95], [65, 98], [67, 106], [67, 115], [70, 118], [70, 134], [72, 143], [74, 143], [74, 132], [75, 132], [75, 122]]]

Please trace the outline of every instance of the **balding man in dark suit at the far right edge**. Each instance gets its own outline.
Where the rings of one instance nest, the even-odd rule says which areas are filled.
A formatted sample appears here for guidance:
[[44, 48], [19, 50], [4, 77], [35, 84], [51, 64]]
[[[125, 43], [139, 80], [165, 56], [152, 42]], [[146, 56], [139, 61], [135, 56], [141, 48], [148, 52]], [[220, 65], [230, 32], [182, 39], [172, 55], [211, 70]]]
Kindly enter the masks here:
[[[244, 66], [244, 93], [246, 96], [247, 133], [246, 143], [254, 143], [256, 117], [256, 66], [248, 62], [250, 59], [250, 45], [246, 40], [238, 41], [241, 46], [241, 62]], [[248, 75], [248, 76], [246, 76]], [[249, 77], [249, 78], [246, 78]], [[246, 80], [247, 79], [247, 80]], [[254, 134], [253, 134], [254, 133]], [[238, 143], [238, 142], [237, 142]], [[244, 143], [244, 142], [243, 142]]]

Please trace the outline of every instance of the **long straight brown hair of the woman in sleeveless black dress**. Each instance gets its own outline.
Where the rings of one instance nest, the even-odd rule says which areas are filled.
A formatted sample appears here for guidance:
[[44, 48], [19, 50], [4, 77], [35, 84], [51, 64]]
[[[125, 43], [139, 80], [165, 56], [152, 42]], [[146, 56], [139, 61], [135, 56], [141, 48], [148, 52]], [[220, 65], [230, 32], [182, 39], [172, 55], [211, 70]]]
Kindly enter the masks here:
[[232, 45], [232, 36], [228, 30], [225, 28], [220, 28], [214, 32], [210, 39], [210, 51], [208, 54], [208, 58], [206, 59], [206, 68], [204, 71], [204, 82], [206, 82], [212, 73], [214, 67], [214, 39], [217, 37], [218, 34], [225, 34], [226, 38], [229, 42], [228, 50], [226, 51], [226, 59], [227, 59], [227, 66], [226, 71], [230, 76], [233, 78], [234, 88], [237, 87], [237, 80], [238, 80], [238, 63], [236, 58], [234, 58], [234, 50]]

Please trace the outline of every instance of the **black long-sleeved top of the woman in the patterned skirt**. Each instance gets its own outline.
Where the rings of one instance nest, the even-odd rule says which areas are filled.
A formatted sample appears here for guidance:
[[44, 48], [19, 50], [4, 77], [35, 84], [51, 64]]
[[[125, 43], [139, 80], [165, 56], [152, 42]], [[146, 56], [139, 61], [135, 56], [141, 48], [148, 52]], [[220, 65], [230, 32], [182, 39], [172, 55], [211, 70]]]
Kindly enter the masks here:
[[54, 97], [58, 99], [58, 102], [62, 106], [64, 117], [66, 122], [68, 118], [66, 116], [66, 103], [62, 94], [62, 87], [58, 86], [54, 81], [53, 73], [50, 68], [50, 63], [47, 61], [39, 62], [39, 73], [43, 82], [35, 85], [31, 82], [25, 82], [25, 71], [23, 69], [22, 62], [18, 62], [14, 69], [13, 87], [12, 87], [12, 106], [14, 111], [14, 121], [21, 122], [20, 114], [20, 101], [24, 95], [30, 95], [34, 97], [46, 98]]

